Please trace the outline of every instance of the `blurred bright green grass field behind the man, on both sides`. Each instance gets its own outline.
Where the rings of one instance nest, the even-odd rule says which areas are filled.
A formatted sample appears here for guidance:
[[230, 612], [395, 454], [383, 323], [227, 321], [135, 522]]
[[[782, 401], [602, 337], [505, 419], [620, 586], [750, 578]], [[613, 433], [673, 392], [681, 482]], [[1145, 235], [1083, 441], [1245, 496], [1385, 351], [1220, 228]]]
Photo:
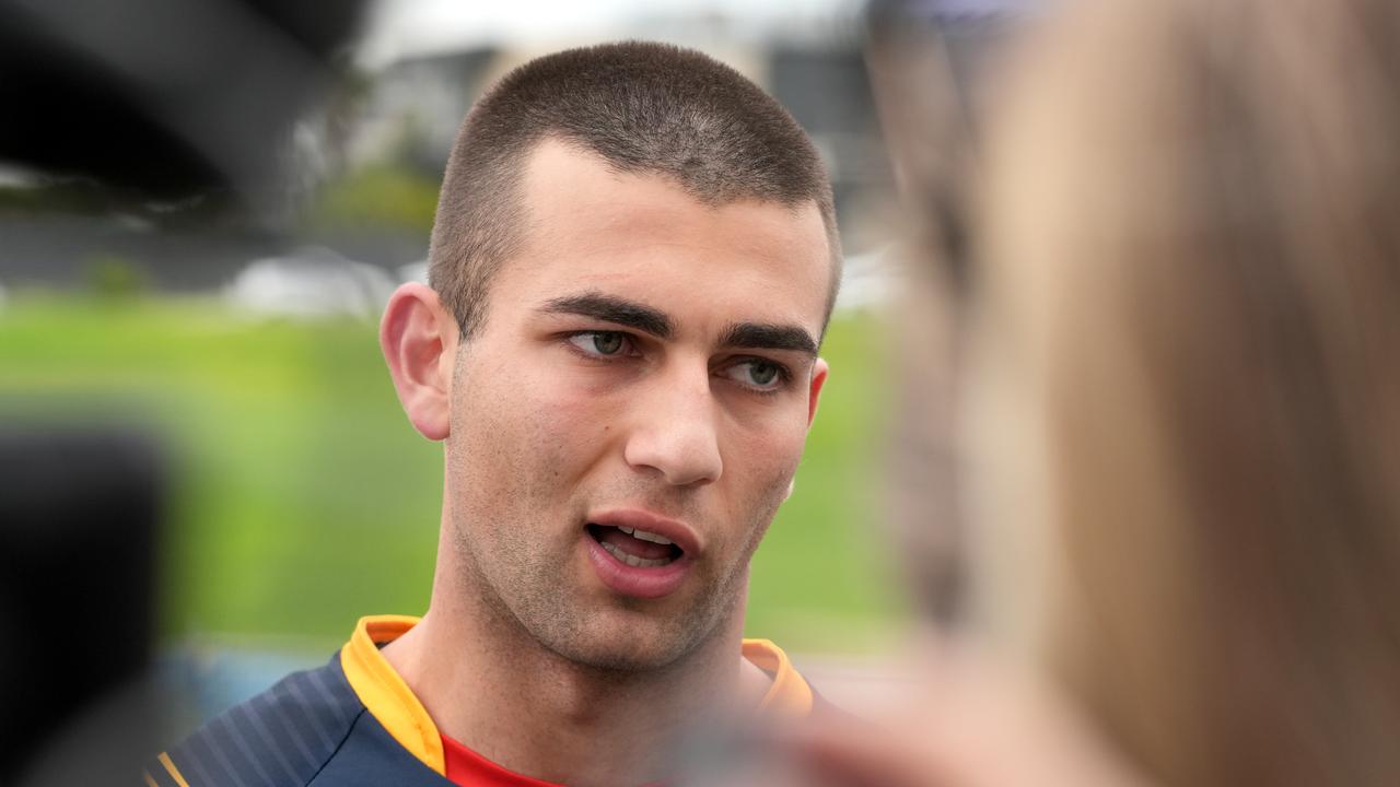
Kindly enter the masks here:
[[[833, 323], [797, 493], [755, 559], [749, 630], [791, 650], [879, 650], [902, 620], [881, 527], [883, 346], [871, 318]], [[367, 322], [13, 294], [0, 309], [0, 423], [17, 420], [160, 437], [169, 639], [335, 647], [360, 615], [427, 604], [441, 452], [405, 420]]]

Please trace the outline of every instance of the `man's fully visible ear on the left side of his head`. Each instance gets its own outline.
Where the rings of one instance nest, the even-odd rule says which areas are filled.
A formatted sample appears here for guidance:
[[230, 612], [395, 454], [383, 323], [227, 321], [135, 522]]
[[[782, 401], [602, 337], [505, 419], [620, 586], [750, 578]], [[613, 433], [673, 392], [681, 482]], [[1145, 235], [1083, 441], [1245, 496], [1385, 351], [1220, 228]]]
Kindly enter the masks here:
[[389, 297], [379, 323], [379, 347], [393, 389], [413, 429], [428, 440], [451, 431], [452, 363], [456, 319], [431, 287], [409, 281]]

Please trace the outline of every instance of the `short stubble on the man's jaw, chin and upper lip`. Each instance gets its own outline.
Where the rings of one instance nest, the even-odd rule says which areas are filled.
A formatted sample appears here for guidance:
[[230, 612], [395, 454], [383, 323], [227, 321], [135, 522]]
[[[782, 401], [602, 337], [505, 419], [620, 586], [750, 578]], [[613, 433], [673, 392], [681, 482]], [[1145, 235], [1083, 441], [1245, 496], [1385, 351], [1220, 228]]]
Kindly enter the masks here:
[[[470, 424], [465, 423], [468, 419]], [[749, 521], [734, 532], [743, 534], [745, 542], [728, 564], [714, 563], [722, 559], [718, 549], [701, 556], [687, 584], [703, 587], [693, 591], [683, 609], [662, 609], [655, 599], [615, 594], [599, 599], [571, 585], [577, 539], [587, 538], [584, 522], [542, 521], [546, 511], [570, 513], [567, 504], [560, 504], [560, 490], [575, 479], [559, 471], [567, 466], [563, 445], [552, 437], [552, 424], [515, 423], [517, 430], [511, 430], [512, 424], [504, 420], [483, 412], [459, 417], [454, 408], [447, 451], [447, 493], [452, 496], [449, 542], [459, 566], [455, 581], [462, 598], [489, 622], [487, 630], [500, 633], [503, 646], [539, 647], [577, 667], [603, 672], [659, 671], [682, 662], [727, 630], [734, 616], [742, 615], [749, 560], [785, 497], [791, 472], [777, 473], [780, 478], [742, 506], [750, 513]], [[512, 431], [518, 444], [532, 451], [486, 455], [473, 445], [473, 434], [498, 440]], [[452, 479], [461, 489], [455, 489]], [[658, 489], [661, 482], [644, 478], [627, 483], [631, 489], [610, 490], [605, 499], [668, 500], [671, 508], [689, 508], [687, 518], [700, 521], [699, 490]], [[578, 525], [574, 534], [568, 532], [571, 524]]]

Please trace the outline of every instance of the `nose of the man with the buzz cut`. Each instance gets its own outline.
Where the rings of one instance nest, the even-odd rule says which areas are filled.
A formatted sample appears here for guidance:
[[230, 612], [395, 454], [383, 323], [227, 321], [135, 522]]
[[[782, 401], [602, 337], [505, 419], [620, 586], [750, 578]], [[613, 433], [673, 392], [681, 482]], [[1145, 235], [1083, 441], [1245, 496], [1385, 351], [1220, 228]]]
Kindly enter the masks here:
[[633, 408], [624, 458], [657, 471], [675, 486], [720, 480], [718, 402], [707, 368], [658, 375]]

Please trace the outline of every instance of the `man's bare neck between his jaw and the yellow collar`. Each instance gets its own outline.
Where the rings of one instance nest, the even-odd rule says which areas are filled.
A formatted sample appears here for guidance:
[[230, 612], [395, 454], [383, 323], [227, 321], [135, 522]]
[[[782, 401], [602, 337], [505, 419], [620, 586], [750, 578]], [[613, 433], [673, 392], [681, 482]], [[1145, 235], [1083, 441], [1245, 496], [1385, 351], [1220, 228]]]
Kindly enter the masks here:
[[480, 608], [438, 601], [384, 648], [385, 658], [441, 734], [535, 779], [665, 779], [678, 734], [708, 716], [756, 707], [769, 686], [739, 655], [742, 615], [665, 669], [622, 674], [573, 664]]

